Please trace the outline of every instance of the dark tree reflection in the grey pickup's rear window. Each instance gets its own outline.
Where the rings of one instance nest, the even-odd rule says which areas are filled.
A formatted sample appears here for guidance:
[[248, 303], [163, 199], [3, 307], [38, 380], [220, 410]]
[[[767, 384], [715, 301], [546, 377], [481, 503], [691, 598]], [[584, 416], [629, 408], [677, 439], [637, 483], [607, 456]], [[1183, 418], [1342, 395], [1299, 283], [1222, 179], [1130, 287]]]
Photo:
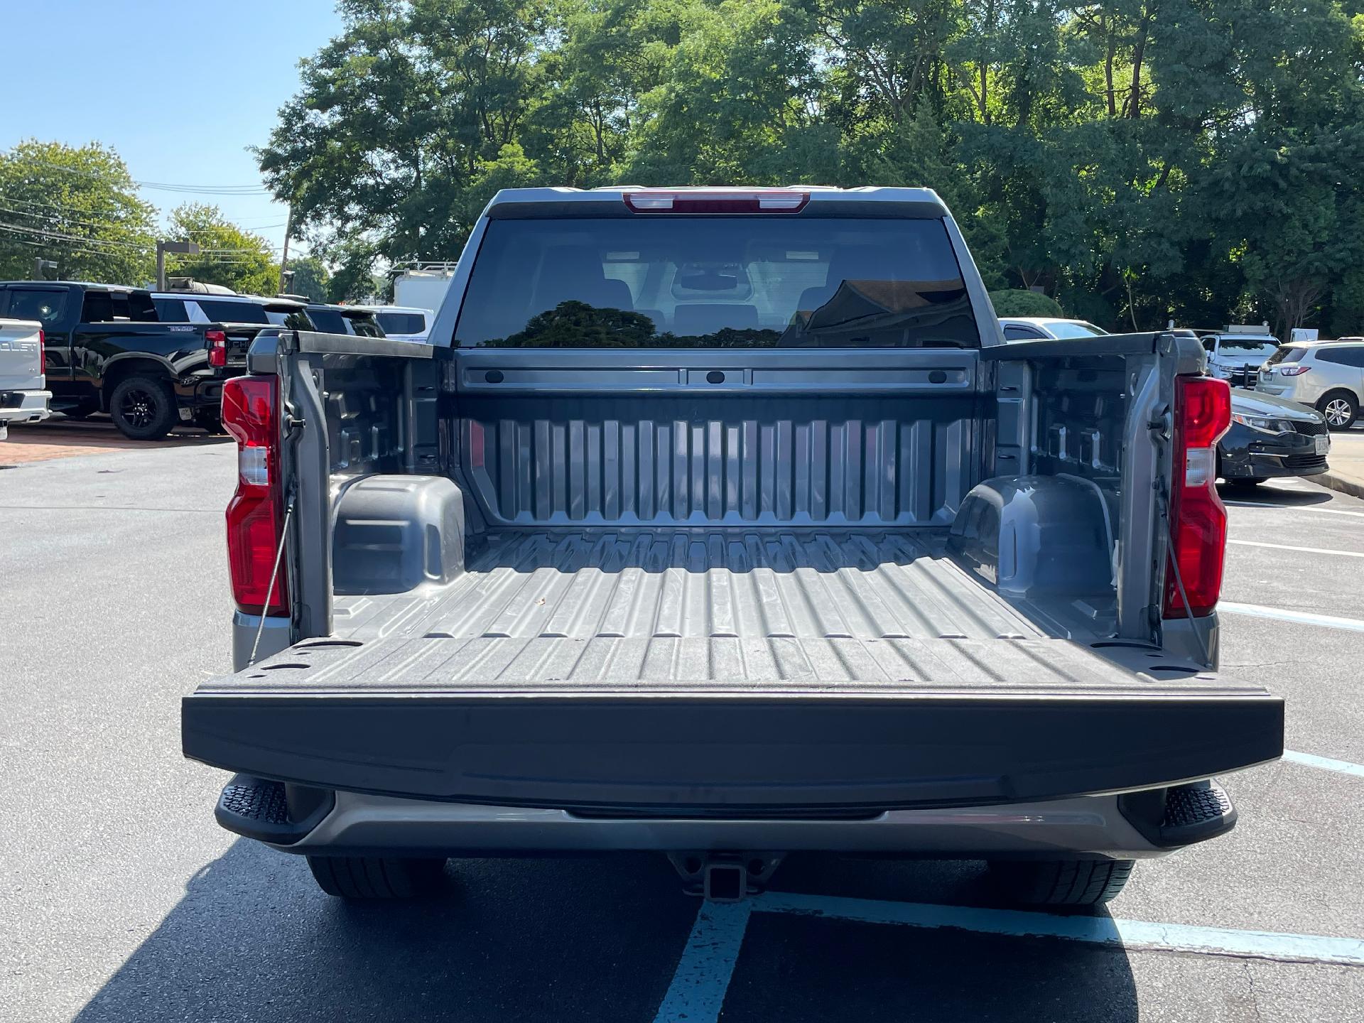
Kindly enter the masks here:
[[525, 327], [481, 348], [772, 348], [777, 331], [724, 327], [711, 334], [659, 334], [642, 312], [561, 301], [527, 321]]

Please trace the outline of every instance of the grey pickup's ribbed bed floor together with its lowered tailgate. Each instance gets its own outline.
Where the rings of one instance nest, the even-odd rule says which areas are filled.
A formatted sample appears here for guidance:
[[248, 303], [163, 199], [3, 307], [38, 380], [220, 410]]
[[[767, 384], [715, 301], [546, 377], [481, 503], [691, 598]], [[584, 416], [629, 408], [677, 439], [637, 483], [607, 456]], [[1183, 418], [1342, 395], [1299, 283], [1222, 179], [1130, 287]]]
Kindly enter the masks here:
[[201, 686], [184, 747], [329, 788], [701, 814], [1061, 798], [1278, 756], [1263, 690], [1065, 638], [940, 544], [491, 533], [453, 582], [340, 596], [333, 637]]

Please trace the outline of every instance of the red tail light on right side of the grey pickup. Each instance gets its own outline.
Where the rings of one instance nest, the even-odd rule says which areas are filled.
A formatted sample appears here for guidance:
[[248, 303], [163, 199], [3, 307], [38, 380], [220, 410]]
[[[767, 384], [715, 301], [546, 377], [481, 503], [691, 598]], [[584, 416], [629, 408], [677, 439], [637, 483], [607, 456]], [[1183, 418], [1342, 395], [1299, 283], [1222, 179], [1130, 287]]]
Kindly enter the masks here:
[[1170, 488], [1172, 546], [1165, 567], [1166, 618], [1211, 614], [1222, 591], [1226, 509], [1217, 495], [1217, 441], [1230, 423], [1232, 390], [1226, 381], [1211, 376], [1174, 379], [1174, 479]]

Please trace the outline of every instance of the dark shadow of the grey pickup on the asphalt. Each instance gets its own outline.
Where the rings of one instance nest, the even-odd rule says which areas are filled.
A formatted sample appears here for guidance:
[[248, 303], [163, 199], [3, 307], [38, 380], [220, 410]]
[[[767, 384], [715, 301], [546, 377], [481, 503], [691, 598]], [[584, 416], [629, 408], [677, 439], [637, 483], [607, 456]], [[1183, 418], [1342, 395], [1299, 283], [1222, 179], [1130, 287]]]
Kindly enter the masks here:
[[[866, 866], [810, 857], [780, 887], [971, 900], [975, 885], [970, 866]], [[348, 906], [301, 858], [240, 840], [76, 1019], [648, 1023], [698, 907], [648, 854], [454, 861], [447, 880], [428, 903]], [[724, 1005], [726, 1020], [1043, 1016], [1135, 1020], [1125, 956], [754, 913]]]

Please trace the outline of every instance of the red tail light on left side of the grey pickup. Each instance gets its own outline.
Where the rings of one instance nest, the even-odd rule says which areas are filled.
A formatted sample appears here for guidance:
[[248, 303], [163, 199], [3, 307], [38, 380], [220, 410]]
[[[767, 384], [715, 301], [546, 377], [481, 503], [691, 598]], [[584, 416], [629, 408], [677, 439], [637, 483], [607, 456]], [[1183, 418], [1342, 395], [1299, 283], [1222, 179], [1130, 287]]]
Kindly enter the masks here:
[[288, 569], [276, 561], [284, 539], [280, 481], [280, 381], [235, 376], [222, 385], [222, 426], [237, 442], [237, 491], [228, 503], [232, 596], [246, 614], [288, 614]]

